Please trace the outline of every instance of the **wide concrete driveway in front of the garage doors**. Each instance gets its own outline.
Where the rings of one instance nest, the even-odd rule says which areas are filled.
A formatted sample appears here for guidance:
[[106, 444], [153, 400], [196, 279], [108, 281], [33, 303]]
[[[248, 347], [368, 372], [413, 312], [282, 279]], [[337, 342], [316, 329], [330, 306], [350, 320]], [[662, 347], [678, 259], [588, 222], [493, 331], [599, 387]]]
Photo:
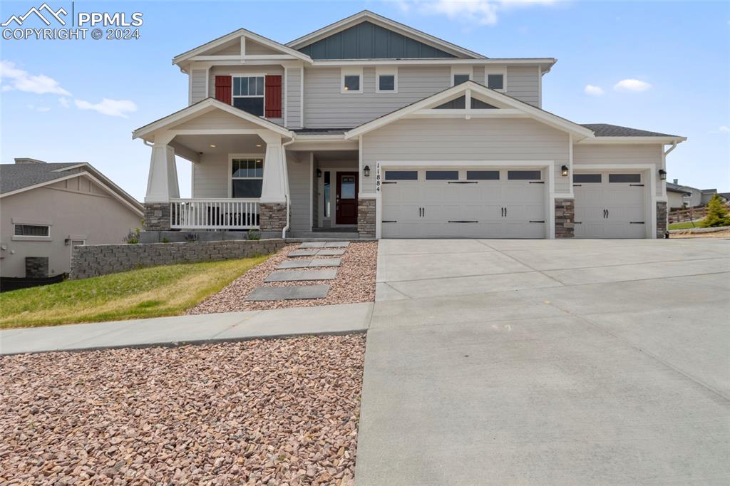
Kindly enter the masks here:
[[730, 484], [730, 241], [383, 240], [358, 485]]

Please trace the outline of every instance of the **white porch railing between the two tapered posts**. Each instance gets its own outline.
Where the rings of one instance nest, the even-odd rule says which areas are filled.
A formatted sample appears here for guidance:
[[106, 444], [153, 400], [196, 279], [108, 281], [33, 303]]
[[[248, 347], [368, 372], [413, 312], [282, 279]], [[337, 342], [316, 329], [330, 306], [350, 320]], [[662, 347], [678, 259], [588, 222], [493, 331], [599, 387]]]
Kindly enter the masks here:
[[258, 229], [258, 199], [172, 199], [172, 229]]

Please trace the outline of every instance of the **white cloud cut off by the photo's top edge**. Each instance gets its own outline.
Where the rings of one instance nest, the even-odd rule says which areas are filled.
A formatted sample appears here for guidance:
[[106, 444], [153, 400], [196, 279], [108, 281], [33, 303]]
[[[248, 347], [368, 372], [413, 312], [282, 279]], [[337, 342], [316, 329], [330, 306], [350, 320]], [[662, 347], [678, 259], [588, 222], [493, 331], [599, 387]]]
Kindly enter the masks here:
[[398, 3], [405, 12], [415, 9], [424, 15], [446, 15], [464, 23], [493, 26], [504, 9], [554, 4], [556, 0], [399, 0]]

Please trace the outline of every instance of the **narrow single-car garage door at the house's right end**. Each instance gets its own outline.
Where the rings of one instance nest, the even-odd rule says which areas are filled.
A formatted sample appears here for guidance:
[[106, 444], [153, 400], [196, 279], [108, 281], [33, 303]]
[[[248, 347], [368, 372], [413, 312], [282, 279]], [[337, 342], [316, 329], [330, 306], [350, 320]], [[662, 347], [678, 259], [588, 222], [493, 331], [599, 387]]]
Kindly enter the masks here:
[[645, 189], [638, 172], [573, 174], [576, 238], [645, 238]]

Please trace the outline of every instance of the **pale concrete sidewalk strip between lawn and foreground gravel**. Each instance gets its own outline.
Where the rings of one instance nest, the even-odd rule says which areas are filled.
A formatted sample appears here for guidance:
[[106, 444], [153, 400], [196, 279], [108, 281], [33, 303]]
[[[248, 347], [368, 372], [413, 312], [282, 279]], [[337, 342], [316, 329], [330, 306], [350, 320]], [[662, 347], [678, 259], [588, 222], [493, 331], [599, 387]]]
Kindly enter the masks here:
[[0, 355], [364, 332], [372, 302], [0, 331]]

